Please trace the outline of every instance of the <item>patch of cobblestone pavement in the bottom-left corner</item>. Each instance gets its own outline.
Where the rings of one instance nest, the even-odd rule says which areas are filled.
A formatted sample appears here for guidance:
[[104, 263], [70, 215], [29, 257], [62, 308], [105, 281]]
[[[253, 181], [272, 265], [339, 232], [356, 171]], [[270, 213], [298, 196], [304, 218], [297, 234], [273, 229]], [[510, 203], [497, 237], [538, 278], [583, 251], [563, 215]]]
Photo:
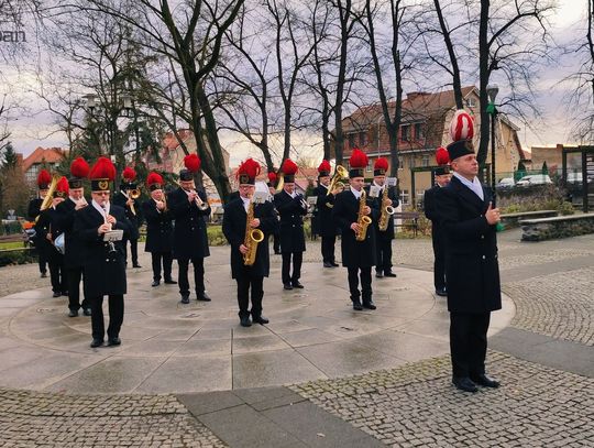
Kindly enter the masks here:
[[224, 447], [170, 395], [0, 390], [1, 447]]

